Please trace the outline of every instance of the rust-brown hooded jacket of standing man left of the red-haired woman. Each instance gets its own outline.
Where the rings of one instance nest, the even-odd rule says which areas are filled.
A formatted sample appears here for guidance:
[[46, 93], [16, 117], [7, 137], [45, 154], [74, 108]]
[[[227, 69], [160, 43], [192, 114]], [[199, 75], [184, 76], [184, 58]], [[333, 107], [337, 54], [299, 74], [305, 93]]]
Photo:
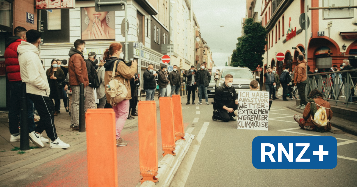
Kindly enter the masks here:
[[89, 85], [88, 72], [83, 54], [72, 47], [68, 55], [70, 56], [68, 61], [69, 85], [78, 86], [83, 83], [84, 87], [87, 87]]

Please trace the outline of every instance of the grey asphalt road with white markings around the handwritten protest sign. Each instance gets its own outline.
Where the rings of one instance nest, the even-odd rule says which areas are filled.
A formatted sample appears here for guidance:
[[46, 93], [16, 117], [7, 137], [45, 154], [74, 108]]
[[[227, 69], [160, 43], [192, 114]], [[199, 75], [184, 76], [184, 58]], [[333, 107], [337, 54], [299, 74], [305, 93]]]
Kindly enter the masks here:
[[[213, 99], [209, 99], [209, 103]], [[183, 102], [184, 103], [184, 102]], [[195, 135], [171, 187], [230, 186], [357, 186], [357, 136], [333, 128], [318, 133], [299, 128], [295, 100], [273, 101], [268, 131], [237, 129], [236, 121], [212, 120], [212, 105], [183, 105], [186, 131]], [[338, 142], [334, 169], [256, 169], [252, 165], [252, 140], [256, 136], [333, 136]]]

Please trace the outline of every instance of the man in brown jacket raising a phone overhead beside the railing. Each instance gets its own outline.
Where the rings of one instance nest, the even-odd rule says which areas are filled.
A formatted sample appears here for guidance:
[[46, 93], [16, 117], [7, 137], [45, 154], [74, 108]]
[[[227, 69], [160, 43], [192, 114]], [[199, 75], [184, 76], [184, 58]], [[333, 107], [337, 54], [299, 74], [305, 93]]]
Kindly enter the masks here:
[[296, 47], [296, 51], [299, 52], [297, 56], [297, 65], [294, 69], [294, 82], [296, 83], [297, 91], [300, 95], [300, 105], [296, 108], [305, 109], [306, 105], [306, 96], [305, 96], [305, 87], [307, 83], [306, 76], [306, 65], [307, 61], [304, 59], [302, 52], [298, 47]]

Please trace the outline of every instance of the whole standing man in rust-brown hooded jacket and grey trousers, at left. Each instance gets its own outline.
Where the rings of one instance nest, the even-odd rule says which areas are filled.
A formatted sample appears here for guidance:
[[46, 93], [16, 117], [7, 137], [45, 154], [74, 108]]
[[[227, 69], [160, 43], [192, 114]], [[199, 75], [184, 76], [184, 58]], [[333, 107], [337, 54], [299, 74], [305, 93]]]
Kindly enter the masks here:
[[72, 89], [72, 105], [71, 105], [71, 127], [72, 130], [79, 130], [79, 85], [84, 84], [84, 93], [89, 85], [88, 72], [83, 52], [86, 51], [86, 42], [84, 40], [76, 40], [74, 47], [69, 51], [68, 74], [69, 85]]

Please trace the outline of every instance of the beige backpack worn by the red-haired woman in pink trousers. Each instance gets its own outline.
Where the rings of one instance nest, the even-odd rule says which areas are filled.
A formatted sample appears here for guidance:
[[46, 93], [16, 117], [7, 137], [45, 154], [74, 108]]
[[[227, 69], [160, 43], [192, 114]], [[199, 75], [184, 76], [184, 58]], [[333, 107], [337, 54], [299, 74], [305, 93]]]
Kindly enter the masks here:
[[115, 72], [116, 72], [116, 64], [118, 61], [115, 61], [114, 63], [114, 68], [112, 72], [112, 77], [110, 79], [110, 82], [108, 83], [109, 86], [107, 86], [105, 92], [110, 96], [110, 105], [116, 106], [118, 103], [122, 102], [128, 95], [128, 90], [126, 88], [126, 84], [124, 81], [124, 84], [122, 84], [118, 79], [115, 79]]

